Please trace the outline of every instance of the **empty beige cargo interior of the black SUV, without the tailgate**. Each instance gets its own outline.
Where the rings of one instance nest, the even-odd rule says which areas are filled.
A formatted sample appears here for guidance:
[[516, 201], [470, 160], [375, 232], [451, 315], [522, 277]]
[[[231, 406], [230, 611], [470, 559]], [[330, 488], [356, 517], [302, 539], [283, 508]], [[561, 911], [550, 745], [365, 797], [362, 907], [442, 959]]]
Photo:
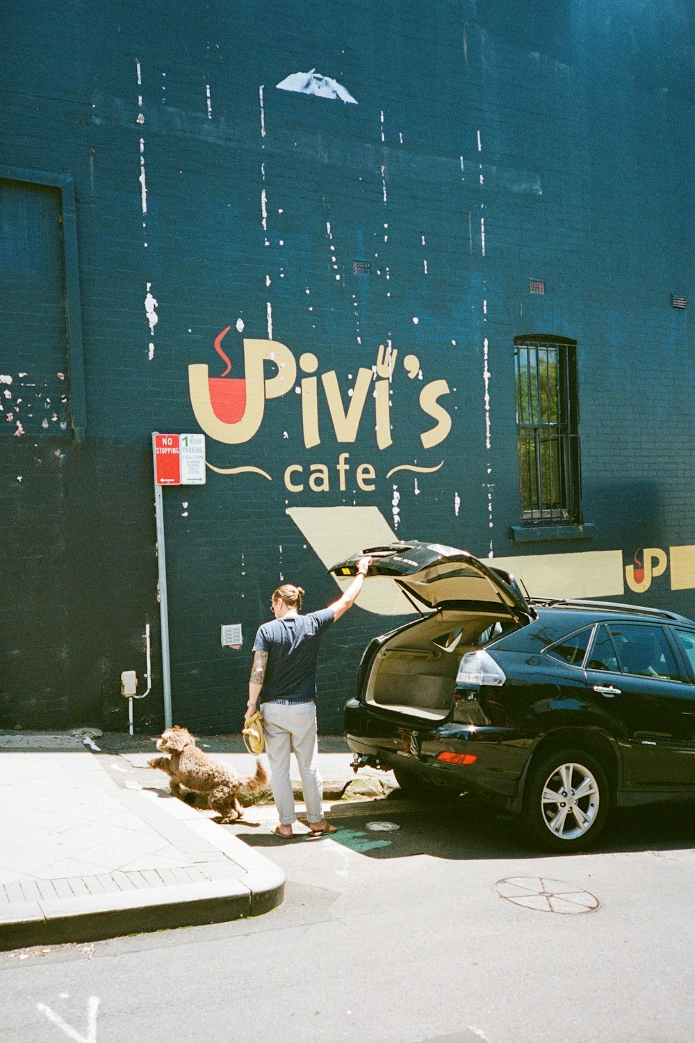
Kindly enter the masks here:
[[496, 633], [517, 624], [503, 613], [447, 608], [401, 627], [376, 653], [365, 681], [366, 703], [438, 722], [453, 706], [458, 663]]

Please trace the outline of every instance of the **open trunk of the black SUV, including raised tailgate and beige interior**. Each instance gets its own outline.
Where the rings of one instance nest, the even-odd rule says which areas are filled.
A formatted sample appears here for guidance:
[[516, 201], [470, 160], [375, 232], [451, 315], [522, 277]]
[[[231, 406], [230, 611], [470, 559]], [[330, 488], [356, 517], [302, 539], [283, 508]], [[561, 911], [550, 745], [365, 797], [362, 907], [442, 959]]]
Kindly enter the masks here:
[[514, 577], [439, 543], [368, 549], [330, 572], [354, 575], [364, 555], [373, 559], [368, 577], [391, 576], [413, 606], [429, 614], [378, 638], [361, 696], [405, 717], [442, 721], [453, 705], [462, 656], [497, 633], [525, 626], [533, 610]]

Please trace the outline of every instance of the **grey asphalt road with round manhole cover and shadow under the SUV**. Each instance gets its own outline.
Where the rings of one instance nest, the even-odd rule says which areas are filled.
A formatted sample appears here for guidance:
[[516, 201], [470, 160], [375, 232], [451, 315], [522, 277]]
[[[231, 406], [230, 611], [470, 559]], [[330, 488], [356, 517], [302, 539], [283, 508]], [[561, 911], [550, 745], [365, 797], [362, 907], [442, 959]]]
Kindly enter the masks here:
[[284, 869], [278, 909], [0, 954], [0, 1040], [692, 1043], [692, 807], [564, 857], [470, 798], [342, 805], [287, 844], [247, 818], [224, 828]]

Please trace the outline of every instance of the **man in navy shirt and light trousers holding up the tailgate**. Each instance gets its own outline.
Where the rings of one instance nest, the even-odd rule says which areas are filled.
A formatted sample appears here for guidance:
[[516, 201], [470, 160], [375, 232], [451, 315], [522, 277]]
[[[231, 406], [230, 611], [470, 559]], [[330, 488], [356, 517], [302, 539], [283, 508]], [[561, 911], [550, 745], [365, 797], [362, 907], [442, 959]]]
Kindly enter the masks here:
[[337, 831], [323, 817], [323, 780], [317, 760], [316, 664], [324, 632], [352, 608], [371, 561], [369, 557], [361, 558], [357, 575], [343, 597], [307, 615], [299, 614], [304, 593], [301, 587], [292, 583], [278, 587], [271, 599], [275, 620], [258, 628], [253, 642], [246, 717], [255, 712], [260, 697], [273, 800], [280, 820], [273, 832], [284, 840], [293, 835], [292, 824], [297, 819], [290, 780], [291, 752], [299, 765], [309, 829], [313, 833]]

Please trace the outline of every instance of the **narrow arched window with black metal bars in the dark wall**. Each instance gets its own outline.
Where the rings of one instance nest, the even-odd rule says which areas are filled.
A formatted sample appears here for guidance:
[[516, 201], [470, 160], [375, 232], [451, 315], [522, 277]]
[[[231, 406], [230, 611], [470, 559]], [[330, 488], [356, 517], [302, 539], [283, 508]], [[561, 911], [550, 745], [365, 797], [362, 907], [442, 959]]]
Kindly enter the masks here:
[[576, 341], [515, 337], [514, 358], [522, 525], [579, 525]]

